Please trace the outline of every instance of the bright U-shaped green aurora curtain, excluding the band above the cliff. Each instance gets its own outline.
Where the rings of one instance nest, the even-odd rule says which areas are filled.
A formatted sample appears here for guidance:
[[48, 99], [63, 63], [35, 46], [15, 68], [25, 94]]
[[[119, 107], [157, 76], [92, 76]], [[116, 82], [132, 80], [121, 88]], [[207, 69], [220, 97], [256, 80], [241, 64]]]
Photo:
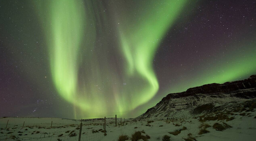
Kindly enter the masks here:
[[[79, 109], [79, 113], [89, 114], [90, 116], [86, 116], [87, 118], [97, 118], [109, 113], [123, 116], [128, 111], [147, 103], [159, 89], [152, 64], [157, 47], [168, 28], [176, 20], [185, 2], [186, 0], [179, 2], [165, 0], [161, 4], [151, 2], [148, 5], [148, 8], [153, 7], [151, 11], [141, 11], [139, 16], [133, 17], [133, 19], [117, 19], [121, 23], [118, 30], [120, 31], [120, 50], [125, 58], [122, 76], [126, 83], [118, 87], [110, 84], [107, 88], [99, 90], [98, 84], [108, 81], [106, 76], [115, 77], [111, 70], [106, 70], [104, 67], [105, 74], [108, 75], [102, 75], [103, 69], [97, 66], [97, 62], [93, 62], [97, 58], [91, 56], [89, 51], [91, 46], [95, 46], [93, 43], [96, 34], [92, 30], [96, 27], [89, 25], [95, 25], [97, 19], [97, 15], [93, 15], [94, 9], [92, 10], [91, 7], [99, 3], [83, 3], [82, 0], [51, 1], [43, 9], [48, 9], [47, 16], [50, 19], [45, 30], [49, 39], [49, 63], [52, 80], [58, 93], [65, 100], [74, 104], [74, 111]], [[84, 4], [85, 7], [81, 6]], [[122, 16], [120, 15], [120, 17]], [[140, 20], [140, 16], [143, 16], [144, 19]], [[158, 20], [154, 20], [156, 18]], [[131, 20], [134, 20], [134, 25], [122, 24], [129, 23]], [[90, 34], [90, 37], [83, 42], [81, 40], [85, 38], [85, 34]], [[84, 55], [80, 54], [81, 50]], [[83, 58], [86, 55], [89, 57]], [[88, 74], [83, 75], [85, 81], [79, 81], [79, 68], [83, 63], [91, 63], [89, 66], [91, 72], [86, 72]], [[86, 69], [82, 71], [86, 71]], [[140, 84], [133, 83], [134, 81], [140, 81]], [[90, 84], [86, 84], [88, 82]], [[84, 85], [80, 86], [78, 83], [84, 83]], [[131, 87], [134, 88], [132, 91]], [[104, 95], [113, 95], [114, 99], [110, 99], [114, 103], [111, 108], [104, 106], [108, 105], [108, 100], [106, 101]], [[95, 106], [96, 103], [97, 106]], [[111, 110], [109, 111], [109, 109]]]

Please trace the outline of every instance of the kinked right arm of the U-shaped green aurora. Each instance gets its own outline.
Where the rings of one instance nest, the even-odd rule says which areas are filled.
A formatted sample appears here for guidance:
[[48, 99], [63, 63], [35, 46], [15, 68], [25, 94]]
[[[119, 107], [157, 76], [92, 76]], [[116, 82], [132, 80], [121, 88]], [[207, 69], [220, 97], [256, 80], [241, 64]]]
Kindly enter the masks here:
[[[161, 1], [162, 3], [150, 3], [148, 11], [137, 14], [129, 19], [125, 17], [119, 22], [120, 41], [122, 52], [126, 59], [126, 77], [134, 81], [134, 77], [142, 83], [131, 101], [132, 109], [148, 102], [159, 89], [156, 74], [153, 70], [153, 58], [162, 37], [173, 25], [186, 0]], [[131, 23], [134, 23], [132, 25]], [[130, 25], [131, 24], [131, 25]], [[132, 83], [132, 82], [130, 82]], [[130, 87], [136, 87], [136, 84]], [[125, 97], [126, 99], [127, 97]], [[119, 109], [122, 111], [122, 108]]]

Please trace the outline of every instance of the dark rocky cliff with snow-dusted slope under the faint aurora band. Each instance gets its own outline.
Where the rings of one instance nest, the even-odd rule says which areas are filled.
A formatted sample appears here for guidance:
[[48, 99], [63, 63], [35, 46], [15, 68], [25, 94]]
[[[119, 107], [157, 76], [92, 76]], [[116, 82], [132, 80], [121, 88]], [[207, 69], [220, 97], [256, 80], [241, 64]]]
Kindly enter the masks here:
[[206, 84], [190, 88], [185, 92], [170, 93], [156, 106], [137, 118], [188, 116], [194, 108], [206, 103], [220, 106], [250, 98], [256, 98], [256, 75], [251, 75], [248, 79], [241, 81]]

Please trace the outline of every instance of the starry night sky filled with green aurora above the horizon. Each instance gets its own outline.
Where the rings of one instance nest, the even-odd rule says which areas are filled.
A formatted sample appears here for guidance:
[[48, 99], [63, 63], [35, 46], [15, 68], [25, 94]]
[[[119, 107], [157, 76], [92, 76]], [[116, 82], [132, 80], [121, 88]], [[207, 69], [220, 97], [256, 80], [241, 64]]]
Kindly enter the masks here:
[[134, 118], [255, 54], [254, 0], [2, 0], [0, 115]]

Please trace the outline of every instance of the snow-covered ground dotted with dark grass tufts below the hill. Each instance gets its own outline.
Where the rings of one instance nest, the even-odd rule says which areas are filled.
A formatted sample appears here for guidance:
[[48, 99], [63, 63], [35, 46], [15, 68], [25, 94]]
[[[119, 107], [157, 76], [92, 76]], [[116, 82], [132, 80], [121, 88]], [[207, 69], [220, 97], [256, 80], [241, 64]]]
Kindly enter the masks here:
[[[179, 114], [183, 113], [183, 116], [168, 117], [168, 119], [165, 117], [163, 120], [159, 118], [158, 120], [153, 118], [128, 119], [122, 125], [120, 125], [119, 118], [118, 126], [115, 126], [114, 118], [107, 118], [106, 135], [103, 132], [103, 119], [83, 120], [81, 141], [117, 141], [122, 134], [127, 135], [128, 141], [131, 141], [131, 136], [136, 131], [144, 131], [142, 135], [150, 136], [148, 141], [162, 141], [164, 135], [170, 136], [171, 141], [185, 141], [189, 137], [192, 141], [193, 139], [196, 141], [255, 141], [256, 111], [255, 105], [252, 106], [254, 102], [230, 103], [216, 112], [194, 116], [184, 110], [179, 111]], [[214, 119], [217, 115], [219, 115], [219, 120]], [[24, 121], [25, 126], [22, 128]], [[50, 129], [51, 121], [52, 128]], [[0, 118], [0, 141], [78, 141], [80, 122], [80, 120], [61, 118]], [[226, 123], [232, 127], [219, 131], [214, 129], [214, 123], [220, 123], [224, 127]], [[208, 124], [210, 127], [199, 127], [201, 124]], [[185, 130], [182, 130], [183, 128]], [[199, 135], [201, 129], [209, 132]], [[168, 133], [174, 131], [180, 133], [178, 135]]]

